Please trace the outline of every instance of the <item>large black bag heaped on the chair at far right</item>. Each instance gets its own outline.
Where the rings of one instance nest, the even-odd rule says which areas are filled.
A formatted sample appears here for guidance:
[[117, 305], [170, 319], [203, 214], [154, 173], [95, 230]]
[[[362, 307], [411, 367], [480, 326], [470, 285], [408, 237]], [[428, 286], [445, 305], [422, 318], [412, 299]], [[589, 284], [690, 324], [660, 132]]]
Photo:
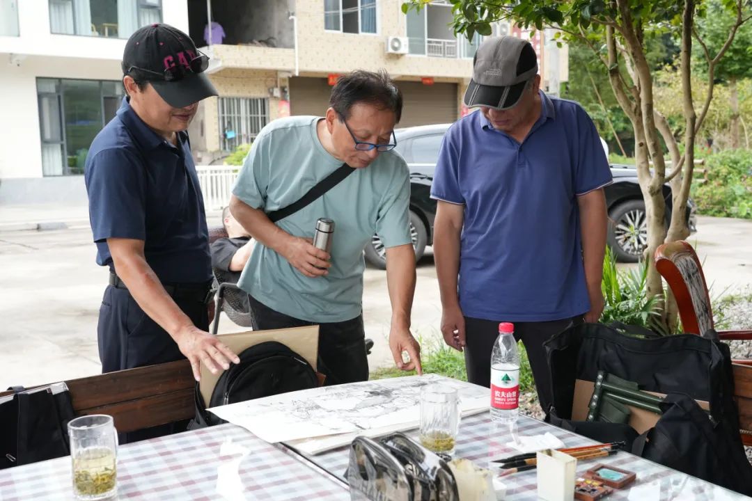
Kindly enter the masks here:
[[[544, 343], [551, 371], [551, 424], [600, 442], [625, 440], [641, 457], [752, 495], [752, 466], [739, 435], [729, 346], [693, 334], [628, 336], [604, 324], [581, 324]], [[628, 424], [572, 421], [575, 381], [599, 371], [666, 394], [662, 415], [642, 435]], [[695, 400], [705, 400], [709, 412]]]

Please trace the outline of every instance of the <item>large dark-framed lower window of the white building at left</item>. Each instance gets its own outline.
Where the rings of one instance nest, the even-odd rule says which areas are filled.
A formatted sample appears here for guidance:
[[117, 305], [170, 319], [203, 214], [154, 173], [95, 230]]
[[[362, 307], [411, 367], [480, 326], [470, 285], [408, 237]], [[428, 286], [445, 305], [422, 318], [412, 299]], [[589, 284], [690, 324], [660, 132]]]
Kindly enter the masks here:
[[83, 174], [96, 134], [117, 113], [123, 86], [117, 81], [37, 79], [42, 173]]

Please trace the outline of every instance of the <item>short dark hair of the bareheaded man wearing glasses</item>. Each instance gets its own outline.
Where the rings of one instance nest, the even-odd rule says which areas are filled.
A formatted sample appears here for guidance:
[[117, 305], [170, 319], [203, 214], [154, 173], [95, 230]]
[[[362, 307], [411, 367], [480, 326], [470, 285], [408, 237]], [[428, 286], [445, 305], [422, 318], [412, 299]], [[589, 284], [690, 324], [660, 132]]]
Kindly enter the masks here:
[[356, 70], [338, 78], [329, 98], [329, 106], [341, 119], [348, 119], [350, 108], [357, 103], [373, 104], [380, 110], [393, 111], [398, 123], [402, 117], [402, 92], [385, 70], [378, 73]]

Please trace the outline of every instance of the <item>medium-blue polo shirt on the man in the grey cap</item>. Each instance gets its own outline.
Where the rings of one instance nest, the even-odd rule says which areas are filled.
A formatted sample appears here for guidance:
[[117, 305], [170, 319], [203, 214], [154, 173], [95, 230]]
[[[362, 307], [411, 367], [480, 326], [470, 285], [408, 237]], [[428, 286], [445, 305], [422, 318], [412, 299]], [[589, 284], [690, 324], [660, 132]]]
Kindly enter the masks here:
[[577, 197], [611, 183], [582, 107], [540, 93], [522, 143], [479, 111], [444, 137], [431, 197], [465, 206], [459, 302], [464, 315], [553, 321], [590, 309]]

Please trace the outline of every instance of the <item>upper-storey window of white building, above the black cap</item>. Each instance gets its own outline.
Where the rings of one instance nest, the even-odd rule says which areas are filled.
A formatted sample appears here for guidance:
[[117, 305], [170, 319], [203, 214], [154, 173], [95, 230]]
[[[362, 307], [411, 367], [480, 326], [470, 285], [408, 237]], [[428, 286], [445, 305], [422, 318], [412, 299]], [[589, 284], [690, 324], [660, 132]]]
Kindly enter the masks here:
[[162, 0], [50, 0], [56, 35], [129, 38], [153, 23], [162, 23]]

